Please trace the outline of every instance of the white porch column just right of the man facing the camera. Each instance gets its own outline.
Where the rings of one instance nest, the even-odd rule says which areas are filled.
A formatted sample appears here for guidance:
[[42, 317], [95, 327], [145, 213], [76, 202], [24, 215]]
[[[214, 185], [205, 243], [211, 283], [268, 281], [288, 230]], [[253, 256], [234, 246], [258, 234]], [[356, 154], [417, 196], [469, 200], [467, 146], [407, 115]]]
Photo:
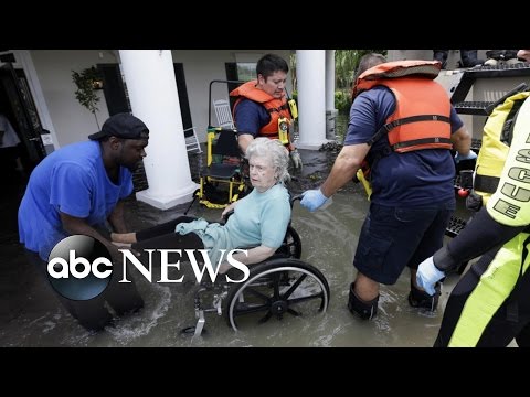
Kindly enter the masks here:
[[318, 149], [326, 140], [326, 51], [297, 50], [299, 139], [296, 147]]

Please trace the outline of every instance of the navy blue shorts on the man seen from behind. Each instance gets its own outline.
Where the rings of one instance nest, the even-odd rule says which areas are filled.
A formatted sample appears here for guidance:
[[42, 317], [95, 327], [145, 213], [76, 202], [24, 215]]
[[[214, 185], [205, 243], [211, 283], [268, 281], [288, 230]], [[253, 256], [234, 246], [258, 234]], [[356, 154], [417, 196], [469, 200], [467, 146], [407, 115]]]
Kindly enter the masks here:
[[374, 281], [393, 285], [404, 267], [416, 269], [444, 244], [455, 200], [425, 206], [372, 203], [362, 225], [353, 266]]

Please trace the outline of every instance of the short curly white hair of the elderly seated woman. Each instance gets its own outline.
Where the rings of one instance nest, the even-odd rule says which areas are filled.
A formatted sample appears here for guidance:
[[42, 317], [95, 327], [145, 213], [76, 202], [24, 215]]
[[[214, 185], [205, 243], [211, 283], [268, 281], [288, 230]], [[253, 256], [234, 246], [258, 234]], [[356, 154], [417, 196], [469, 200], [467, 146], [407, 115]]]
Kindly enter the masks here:
[[268, 158], [274, 168], [277, 181], [285, 182], [289, 179], [289, 151], [278, 139], [255, 138], [246, 148], [245, 157], [251, 160], [253, 155]]

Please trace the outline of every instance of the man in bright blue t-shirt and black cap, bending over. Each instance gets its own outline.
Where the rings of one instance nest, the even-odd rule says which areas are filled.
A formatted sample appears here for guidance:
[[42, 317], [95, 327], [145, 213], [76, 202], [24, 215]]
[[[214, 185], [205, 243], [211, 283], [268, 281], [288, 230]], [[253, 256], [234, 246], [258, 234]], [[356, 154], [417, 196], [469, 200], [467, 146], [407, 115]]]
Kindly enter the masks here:
[[[120, 201], [132, 193], [131, 171], [146, 155], [149, 129], [135, 116], [117, 114], [88, 138], [47, 155], [33, 170], [19, 207], [20, 242], [44, 276], [50, 253], [70, 235], [91, 236], [115, 260], [120, 258], [109, 240], [107, 223], [115, 232], [127, 232]], [[94, 299], [74, 301], [57, 294], [86, 329], [100, 330], [110, 322], [105, 301], [118, 315], [144, 305], [132, 282], [117, 282], [121, 266], [114, 269], [109, 286]]]

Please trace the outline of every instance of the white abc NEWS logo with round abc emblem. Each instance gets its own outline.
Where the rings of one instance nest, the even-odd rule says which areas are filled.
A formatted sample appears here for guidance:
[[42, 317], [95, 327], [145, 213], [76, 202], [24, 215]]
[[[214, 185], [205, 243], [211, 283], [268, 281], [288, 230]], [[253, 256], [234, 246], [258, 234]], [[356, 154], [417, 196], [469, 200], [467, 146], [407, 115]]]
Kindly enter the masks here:
[[[148, 267], [128, 249], [119, 249], [123, 256], [123, 278], [118, 282], [131, 282], [127, 279], [127, 262], [134, 265], [149, 282], [152, 282], [152, 254], [160, 253], [161, 276], [157, 282], [182, 282], [183, 276], [177, 280], [169, 279], [168, 268], [180, 269], [180, 260], [169, 261], [169, 254], [182, 255], [181, 249], [146, 249], [148, 253]], [[208, 249], [198, 249], [201, 259], [195, 258], [195, 249], [184, 249], [191, 264], [195, 279], [201, 282], [204, 272], [208, 271], [210, 279], [215, 281], [219, 265], [224, 258], [225, 249], [221, 249], [221, 259], [214, 269], [208, 256]], [[245, 249], [233, 249], [227, 253], [226, 261], [243, 272], [243, 277], [232, 280], [226, 276], [227, 282], [243, 282], [250, 276], [246, 265], [235, 260], [233, 255], [245, 253]], [[202, 265], [203, 264], [203, 265]], [[201, 268], [202, 266], [202, 268]], [[70, 300], [89, 300], [102, 294], [113, 277], [113, 260], [107, 247], [99, 240], [85, 235], [73, 235], [63, 238], [50, 253], [47, 261], [47, 278], [53, 289]]]

